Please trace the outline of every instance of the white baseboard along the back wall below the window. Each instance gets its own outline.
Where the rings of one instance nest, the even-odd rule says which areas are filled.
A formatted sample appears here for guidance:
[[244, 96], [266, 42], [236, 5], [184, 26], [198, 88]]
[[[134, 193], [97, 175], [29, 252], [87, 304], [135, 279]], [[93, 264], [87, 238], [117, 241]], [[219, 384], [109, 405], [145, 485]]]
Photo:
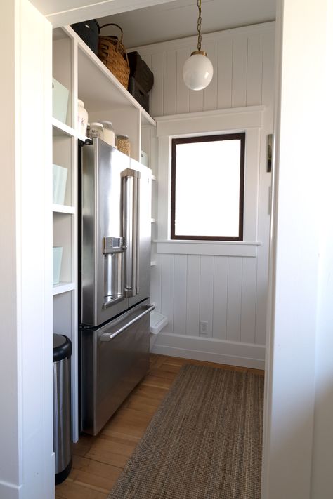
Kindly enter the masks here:
[[230, 366], [265, 368], [265, 346], [237, 343], [214, 338], [198, 338], [159, 333], [152, 353], [183, 357]]

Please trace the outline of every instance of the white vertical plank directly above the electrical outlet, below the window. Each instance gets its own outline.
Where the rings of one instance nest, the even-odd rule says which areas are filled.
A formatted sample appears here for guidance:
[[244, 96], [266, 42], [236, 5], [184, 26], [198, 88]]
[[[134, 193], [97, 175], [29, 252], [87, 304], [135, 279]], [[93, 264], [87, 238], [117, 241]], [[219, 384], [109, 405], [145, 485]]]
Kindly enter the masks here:
[[207, 336], [213, 335], [214, 256], [200, 257], [200, 321], [207, 322]]

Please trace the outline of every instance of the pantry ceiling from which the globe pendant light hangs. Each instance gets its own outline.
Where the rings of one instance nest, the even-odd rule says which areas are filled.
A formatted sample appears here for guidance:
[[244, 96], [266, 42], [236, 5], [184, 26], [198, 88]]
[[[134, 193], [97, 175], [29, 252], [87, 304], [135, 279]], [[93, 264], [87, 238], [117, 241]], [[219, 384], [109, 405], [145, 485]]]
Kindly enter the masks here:
[[[120, 25], [124, 45], [130, 48], [197, 34], [197, 13], [197, 0], [174, 0], [98, 18], [98, 22]], [[202, 34], [272, 20], [275, 0], [202, 0]], [[117, 29], [102, 31], [109, 33], [117, 34]]]

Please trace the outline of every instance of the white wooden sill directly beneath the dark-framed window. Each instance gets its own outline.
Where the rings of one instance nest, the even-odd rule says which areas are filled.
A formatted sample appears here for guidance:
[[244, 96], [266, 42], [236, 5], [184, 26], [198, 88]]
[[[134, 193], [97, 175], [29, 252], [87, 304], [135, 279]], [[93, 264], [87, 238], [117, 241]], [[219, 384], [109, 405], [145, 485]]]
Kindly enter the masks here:
[[260, 241], [171, 241], [155, 240], [157, 253], [176, 255], [256, 257]]

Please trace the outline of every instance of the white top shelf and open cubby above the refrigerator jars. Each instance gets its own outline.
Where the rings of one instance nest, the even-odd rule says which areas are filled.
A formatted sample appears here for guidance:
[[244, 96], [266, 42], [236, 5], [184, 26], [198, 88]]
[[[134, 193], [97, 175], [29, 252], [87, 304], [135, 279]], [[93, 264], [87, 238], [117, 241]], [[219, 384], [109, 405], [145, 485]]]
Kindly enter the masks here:
[[155, 119], [119, 83], [117, 78], [98, 59], [97, 55], [74, 32], [74, 29], [70, 26], [65, 26], [53, 31], [53, 39], [60, 39], [63, 35], [67, 34], [67, 36], [77, 41], [79, 48], [77, 61], [78, 94], [79, 98], [84, 100], [86, 109], [93, 109], [94, 112], [98, 112], [107, 108], [136, 108], [141, 111], [141, 125], [156, 125]]

